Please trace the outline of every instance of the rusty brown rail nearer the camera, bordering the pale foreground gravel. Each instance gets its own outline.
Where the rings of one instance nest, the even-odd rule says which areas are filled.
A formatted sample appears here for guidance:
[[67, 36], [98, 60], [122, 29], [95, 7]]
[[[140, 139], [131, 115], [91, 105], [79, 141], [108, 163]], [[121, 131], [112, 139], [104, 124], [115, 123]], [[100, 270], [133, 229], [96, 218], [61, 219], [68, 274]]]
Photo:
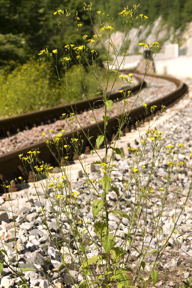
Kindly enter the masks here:
[[[175, 102], [178, 98], [180, 98], [187, 91], [187, 86], [178, 79], [175, 79], [173, 77], [165, 77], [165, 76], [155, 76], [155, 77], [160, 77], [160, 78], [170, 80], [176, 84], [177, 88], [176, 90], [174, 90], [173, 92], [169, 93], [166, 96], [155, 99], [153, 102], [146, 103], [148, 104], [149, 107], [152, 105], [156, 105], [157, 109], [161, 110], [162, 105], [165, 105], [167, 107], [168, 105]], [[62, 110], [62, 113], [64, 113], [63, 111], [64, 110]], [[130, 131], [130, 129], [132, 129], [133, 126], [135, 126], [136, 121], [138, 120], [143, 121], [146, 118], [146, 113], [145, 113], [145, 109], [143, 105], [133, 108], [129, 113], [129, 117], [130, 117], [130, 121], [128, 123], [125, 123], [125, 127], [123, 128], [123, 130], [125, 129], [124, 132]], [[98, 125], [95, 123], [84, 128], [84, 132], [85, 133], [89, 132], [89, 137], [92, 136], [91, 141], [92, 141], [93, 146], [95, 145], [97, 135], [100, 135], [99, 128], [101, 130], [104, 129], [103, 121], [98, 122]], [[114, 133], [116, 133], [117, 126], [118, 126], [118, 120], [115, 117], [110, 118], [108, 120], [107, 138], [109, 141], [112, 139]], [[82, 153], [89, 154], [90, 147], [89, 147], [89, 143], [87, 141], [85, 134], [80, 129], [77, 129], [74, 131], [74, 137], [77, 137], [77, 134], [78, 134], [78, 138], [81, 138], [81, 140], [83, 140]], [[66, 132], [64, 137], [65, 139], [71, 139], [72, 138], [71, 132]], [[37, 148], [39, 148], [39, 151], [41, 151], [41, 154], [39, 154], [39, 157], [41, 158], [41, 160], [38, 159], [38, 161], [44, 161], [44, 162], [47, 162], [50, 166], [55, 166], [55, 158], [51, 155], [51, 152], [49, 151], [46, 143], [44, 141], [39, 141], [36, 144], [32, 144], [32, 145], [23, 147], [22, 149], [17, 149], [15, 151], [12, 151], [12, 152], [9, 152], [7, 154], [0, 156], [0, 184], [5, 184], [5, 179], [9, 181], [19, 176], [22, 176], [23, 179], [30, 182], [30, 179], [28, 179], [27, 173], [24, 171], [24, 167], [22, 166], [22, 162], [19, 159], [18, 155], [19, 154], [26, 155], [29, 150], [37, 149]], [[54, 146], [53, 146], [52, 152], [53, 154], [55, 153], [55, 155], [57, 155], [57, 151]], [[75, 151], [73, 150], [68, 151], [68, 154], [71, 159], [74, 159], [74, 157], [76, 156]], [[62, 161], [62, 164], [64, 164], [63, 161]], [[27, 167], [27, 169], [29, 170], [29, 167]], [[15, 191], [18, 190], [18, 187], [15, 184], [13, 185], [12, 188], [13, 188], [13, 191], [14, 189], [16, 189]]]

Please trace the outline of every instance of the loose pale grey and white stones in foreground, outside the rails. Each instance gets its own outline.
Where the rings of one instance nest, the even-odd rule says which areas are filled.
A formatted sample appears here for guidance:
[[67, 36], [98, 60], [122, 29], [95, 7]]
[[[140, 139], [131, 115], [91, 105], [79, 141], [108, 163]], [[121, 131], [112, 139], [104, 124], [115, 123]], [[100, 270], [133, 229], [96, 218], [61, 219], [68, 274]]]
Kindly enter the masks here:
[[[166, 118], [166, 121], [163, 122], [163, 117], [160, 117], [159, 120], [156, 122], [156, 128], [163, 132], [163, 137], [166, 145], [174, 145], [175, 150], [178, 147], [178, 144], [184, 144], [185, 146], [181, 150], [181, 154], [178, 158], [178, 161], [187, 161], [187, 167], [189, 168], [188, 175], [189, 179], [192, 178], [192, 157], [190, 156], [191, 149], [192, 149], [192, 124], [191, 124], [191, 109], [192, 109], [192, 81], [186, 80], [186, 84], [189, 86], [189, 93], [187, 96], [184, 97], [184, 99], [181, 99], [178, 103], [174, 105], [174, 107], [171, 107], [167, 109], [167, 114], [169, 118]], [[157, 84], [156, 84], [157, 86]], [[152, 92], [151, 92], [152, 94]], [[153, 97], [154, 97], [154, 90], [153, 90]], [[186, 105], [182, 107], [182, 103], [185, 101]], [[50, 126], [49, 128], [50, 129]], [[145, 129], [141, 127], [141, 129]], [[42, 130], [45, 132], [44, 130]], [[144, 131], [144, 130], [143, 130]], [[168, 139], [167, 139], [168, 138]], [[150, 143], [150, 139], [148, 140]], [[135, 145], [135, 148], [139, 148], [141, 144]], [[166, 154], [166, 152], [165, 152]], [[150, 146], [147, 146], [146, 148], [146, 155], [148, 155], [148, 160], [146, 163], [146, 160], [144, 162], [144, 159], [142, 160], [142, 165], [147, 164], [150, 166], [152, 154]], [[158, 177], [155, 181], [155, 184], [153, 185], [153, 194], [149, 198], [150, 205], [149, 209], [146, 211], [144, 209], [143, 211], [143, 221], [146, 218], [146, 232], [145, 232], [145, 243], [149, 243], [151, 239], [151, 235], [153, 234], [154, 229], [154, 221], [152, 221], [152, 218], [154, 215], [158, 215], [159, 213], [159, 207], [161, 206], [160, 201], [160, 192], [158, 190], [159, 187], [165, 187], [166, 183], [166, 173], [165, 173], [165, 167], [167, 167], [167, 160], [166, 157], [162, 157], [163, 162], [161, 163], [161, 167], [158, 170]], [[129, 163], [129, 157], [126, 157], [126, 160], [115, 160], [114, 164], [116, 165], [116, 171], [112, 172], [112, 184], [116, 186], [120, 192], [120, 195], [124, 193], [125, 187], [124, 183], [127, 182], [127, 179], [130, 179], [130, 171], [131, 166]], [[57, 174], [58, 177], [59, 174]], [[81, 177], [82, 176], [82, 177]], [[60, 175], [61, 177], [61, 175]], [[92, 179], [97, 179], [96, 172], [92, 172], [89, 176]], [[145, 183], [147, 174], [145, 174], [145, 170], [143, 173], [143, 183]], [[83, 217], [85, 219], [91, 221], [90, 225], [93, 225], [94, 219], [91, 213], [89, 213], [90, 206], [87, 202], [87, 200], [90, 199], [90, 195], [86, 194], [86, 186], [87, 181], [86, 178], [83, 175], [80, 175], [79, 171], [75, 171], [74, 174], [71, 173], [71, 179], [73, 179], [71, 185], [73, 191], [79, 191], [80, 197], [79, 197], [79, 206], [82, 207], [83, 211]], [[181, 187], [182, 193], [178, 198], [178, 203], [176, 210], [173, 209], [173, 199], [174, 197], [177, 197], [177, 190], [176, 187], [178, 185], [178, 175], [176, 173], [173, 173], [173, 178], [171, 180], [170, 189], [168, 191], [167, 196], [167, 207], [162, 212], [162, 221], [160, 223], [160, 226], [163, 229], [163, 233], [160, 230], [160, 244], [164, 243], [166, 241], [167, 235], [169, 235], [170, 230], [172, 229], [174, 223], [172, 222], [172, 218], [174, 217], [174, 213], [176, 211], [176, 214], [178, 215], [181, 212], [181, 209], [183, 208], [183, 205], [185, 203], [185, 197], [187, 195], [187, 192], [189, 190], [189, 179], [187, 175], [184, 173], [182, 176], [182, 180], [179, 184]], [[32, 184], [28, 184], [28, 198], [32, 202], [33, 207], [31, 207], [28, 199], [26, 198], [23, 191], [14, 192], [12, 194], [12, 207], [14, 212], [14, 218], [16, 219], [16, 239], [17, 239], [17, 247], [19, 247], [20, 254], [19, 259], [16, 259], [16, 256], [14, 254], [14, 225], [13, 225], [13, 214], [11, 212], [11, 207], [9, 205], [9, 202], [6, 201], [6, 195], [3, 195], [0, 197], [0, 204], [1, 204], [1, 211], [0, 211], [0, 237], [2, 239], [2, 242], [7, 254], [9, 257], [12, 258], [13, 265], [17, 267], [18, 261], [19, 264], [23, 268], [34, 268], [34, 271], [26, 271], [24, 272], [26, 281], [30, 285], [30, 287], [48, 287], [48, 278], [47, 278], [47, 257], [49, 258], [49, 281], [52, 282], [49, 287], [55, 288], [55, 287], [70, 287], [71, 279], [68, 276], [68, 272], [66, 269], [62, 268], [58, 273], [58, 268], [60, 266], [60, 258], [59, 253], [54, 246], [53, 242], [51, 242], [51, 239], [49, 236], [47, 236], [47, 230], [45, 229], [45, 226], [42, 226], [42, 220], [41, 220], [41, 212], [40, 208], [41, 205], [39, 203], [39, 198], [37, 196], [37, 193], [35, 192], [35, 188], [32, 187]], [[43, 194], [43, 190], [41, 190], [41, 186], [36, 183], [36, 189], [38, 187], [38, 194], [41, 199], [41, 202], [43, 204], [43, 208], [46, 209], [49, 214], [47, 214], [47, 223], [49, 223], [49, 227], [51, 229], [52, 235], [54, 237], [62, 238], [62, 235], [57, 230], [57, 225], [55, 223], [55, 217], [53, 215], [53, 210], [56, 207], [56, 200], [54, 200], [53, 195], [51, 193], [51, 190], [49, 190], [49, 196]], [[185, 187], [185, 189], [183, 189]], [[130, 205], [135, 203], [135, 183], [132, 183], [130, 186], [130, 195], [128, 198], [126, 195], [123, 197], [123, 201], [119, 202], [116, 209], [125, 211], [127, 214], [130, 213]], [[98, 190], [98, 193], [100, 191]], [[108, 205], [109, 207], [114, 205], [114, 202], [116, 201], [116, 194], [113, 191], [110, 191], [108, 194]], [[47, 201], [47, 202], [46, 202]], [[50, 201], [50, 204], [48, 203]], [[19, 207], [18, 207], [19, 202]], [[51, 202], [53, 205], [51, 205]], [[53, 207], [54, 208], [53, 208]], [[36, 213], [37, 211], [37, 213]], [[178, 224], [182, 224], [177, 230], [177, 233], [174, 234], [166, 246], [166, 250], [164, 251], [164, 256], [161, 259], [161, 266], [157, 267], [156, 270], [159, 271], [160, 276], [158, 282], [156, 283], [155, 287], [164, 287], [164, 275], [167, 270], [167, 278], [166, 278], [166, 288], [169, 287], [175, 287], [175, 281], [178, 282], [178, 287], [181, 287], [183, 283], [181, 280], [185, 280], [191, 275], [191, 259], [192, 259], [192, 199], [189, 197], [187, 204], [185, 205], [185, 210], [183, 211], [183, 214], [181, 216], [180, 222]], [[112, 215], [110, 214], [110, 229], [114, 231], [114, 228], [116, 228], [116, 222], [119, 221], [118, 215]], [[66, 217], [62, 217], [62, 223], [63, 227], [65, 227], [65, 238], [70, 240], [70, 230], [69, 230], [69, 223], [66, 220]], [[123, 218], [121, 225], [119, 226], [118, 235], [122, 235], [122, 237], [118, 238], [118, 244], [121, 244], [123, 242], [123, 233], [127, 232], [128, 229], [128, 219]], [[141, 227], [142, 227], [142, 219], [141, 219]], [[142, 246], [142, 238], [141, 238], [141, 227], [139, 227], [136, 230], [135, 233], [135, 247], [137, 247], [138, 250], [140, 250]], [[83, 226], [79, 226], [78, 229], [83, 229]], [[91, 236], [96, 237], [95, 232], [91, 230]], [[51, 244], [51, 245], [50, 245]], [[97, 243], [99, 245], [99, 242]], [[47, 248], [46, 248], [47, 247]], [[88, 251], [88, 257], [92, 257], [95, 255], [95, 245], [92, 243], [89, 246]], [[127, 244], [127, 249], [129, 249], [129, 245]], [[149, 246], [150, 250], [152, 251], [157, 248], [157, 239], [154, 237], [153, 240], [150, 243]], [[64, 251], [66, 251], [66, 247], [63, 244], [62, 248]], [[128, 250], [127, 250], [128, 251]], [[70, 246], [70, 252], [72, 255], [75, 255], [76, 253], [76, 245], [74, 241], [71, 242]], [[67, 252], [63, 252], [66, 253]], [[128, 253], [128, 252], [127, 252]], [[127, 255], [127, 254], [126, 254]], [[7, 256], [5, 256], [6, 258]], [[154, 254], [152, 253], [147, 257], [146, 261], [146, 271], [145, 276], [147, 276], [147, 273], [149, 274], [151, 271], [151, 264], [154, 260]], [[8, 260], [8, 258], [6, 258]], [[9, 260], [8, 260], [9, 261]], [[70, 265], [71, 264], [71, 258], [66, 257], [66, 262]], [[132, 251], [129, 255], [129, 263], [134, 268], [139, 263], [139, 253], [137, 251]], [[80, 263], [78, 260], [75, 260], [75, 264], [80, 266]], [[73, 265], [75, 265], [73, 263]], [[78, 273], [78, 269], [75, 268], [75, 266], [71, 266], [70, 272], [72, 276], [74, 277], [74, 281], [78, 284], [81, 281], [80, 275]], [[93, 268], [94, 269], [94, 268]], [[176, 272], [175, 272], [176, 271]], [[97, 271], [96, 271], [97, 272]], [[176, 280], [175, 280], [176, 275]], [[1, 287], [18, 287], [17, 284], [20, 282], [20, 279], [14, 275], [10, 269], [6, 266], [4, 266], [3, 269], [3, 276], [0, 276], [1, 278]], [[145, 278], [144, 278], [145, 279]], [[146, 278], [147, 279], [147, 278]], [[145, 279], [145, 280], [146, 280]], [[136, 283], [137, 284], [137, 283]], [[136, 285], [137, 286], [137, 285]]]

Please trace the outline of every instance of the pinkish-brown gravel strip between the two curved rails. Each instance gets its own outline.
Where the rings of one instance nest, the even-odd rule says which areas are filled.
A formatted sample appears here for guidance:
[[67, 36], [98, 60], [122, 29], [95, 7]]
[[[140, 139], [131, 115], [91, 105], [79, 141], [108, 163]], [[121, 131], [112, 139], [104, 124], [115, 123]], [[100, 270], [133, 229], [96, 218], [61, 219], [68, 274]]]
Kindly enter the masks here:
[[[146, 77], [145, 81], [147, 84], [149, 84], [150, 77]], [[168, 94], [169, 92], [173, 91], [176, 88], [176, 85], [170, 81], [160, 79], [160, 78], [154, 78], [151, 82], [149, 88], [146, 90], [146, 88], [141, 89], [141, 93], [139, 96], [142, 97], [143, 103], [146, 103], [147, 101], [153, 101], [154, 96], [155, 98], [158, 98], [160, 96], [164, 96]], [[146, 91], [145, 91], [146, 90]], [[130, 98], [130, 101], [135, 101], [135, 94]], [[119, 113], [122, 112], [122, 105], [123, 101], [119, 101]], [[138, 98], [138, 100], [135, 103], [135, 106], [141, 105], [141, 100]], [[131, 103], [128, 103], [128, 109], [131, 107]], [[103, 120], [102, 116], [104, 114], [103, 108], [99, 108], [98, 111], [94, 111], [95, 117], [98, 121]], [[116, 112], [112, 113], [108, 110], [107, 114], [112, 117], [116, 116]], [[93, 112], [86, 111], [82, 114], [78, 115], [78, 121], [82, 126], [87, 126], [90, 124], [93, 124], [95, 122], [91, 121], [90, 119], [93, 118]], [[73, 123], [74, 128], [79, 128], [78, 123], [76, 120]], [[54, 134], [49, 132], [50, 129], [53, 129]], [[4, 138], [0, 140], [0, 155], [4, 153], [8, 153], [10, 151], [14, 151], [16, 149], [20, 149], [22, 147], [25, 147], [27, 145], [31, 145], [33, 143], [37, 143], [38, 141], [42, 140], [42, 137], [40, 136], [41, 133], [46, 133], [45, 138], [47, 135], [52, 137], [55, 134], [59, 134], [61, 130], [70, 131], [69, 126], [66, 124], [64, 120], [58, 120], [54, 122], [53, 124], [46, 124], [41, 125], [38, 127], [33, 127], [30, 130], [23, 130], [22, 132], [19, 132], [18, 134], [14, 134], [9, 138]]]

